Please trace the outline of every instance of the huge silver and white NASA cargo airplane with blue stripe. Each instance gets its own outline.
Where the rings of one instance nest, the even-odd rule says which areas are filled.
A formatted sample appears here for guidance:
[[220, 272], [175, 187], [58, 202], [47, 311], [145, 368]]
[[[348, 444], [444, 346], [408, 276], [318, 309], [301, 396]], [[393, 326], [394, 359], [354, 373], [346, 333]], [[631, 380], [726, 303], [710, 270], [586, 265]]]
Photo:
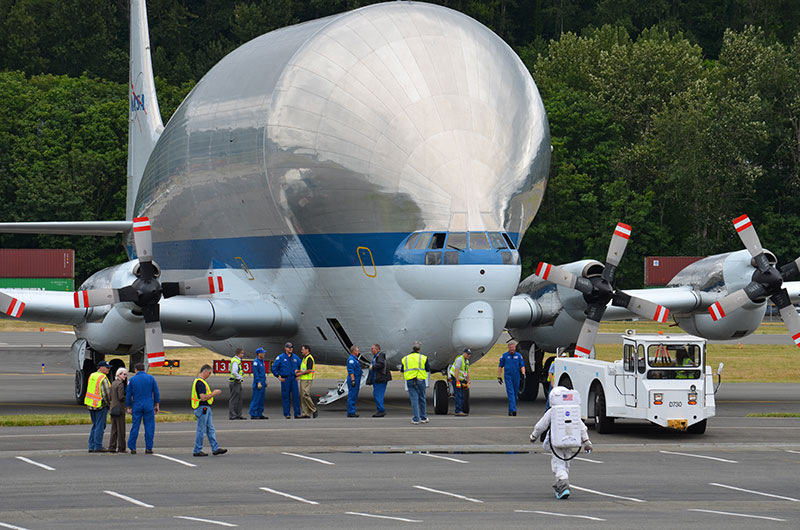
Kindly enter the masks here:
[[530, 352], [535, 398], [543, 353], [591, 351], [603, 313], [664, 321], [669, 308], [708, 337], [751, 333], [763, 316], [765, 302], [741, 296], [733, 316], [705, 314], [734, 307], [723, 296], [756, 270], [746, 253], [698, 262], [677, 289], [615, 290], [622, 224], [605, 266], [543, 267], [557, 286], [519, 283], [516, 247], [549, 171], [547, 117], [519, 57], [461, 13], [392, 2], [262, 35], [166, 126], [149, 49], [145, 3], [132, 0], [126, 220], [0, 223], [127, 238], [130, 261], [77, 293], [0, 293], [11, 317], [74, 326], [79, 400], [106, 356], [163, 362], [162, 331], [225, 355], [307, 343], [325, 364], [379, 342], [397, 365], [421, 340], [438, 371], [465, 347], [479, 359], [508, 328]]

